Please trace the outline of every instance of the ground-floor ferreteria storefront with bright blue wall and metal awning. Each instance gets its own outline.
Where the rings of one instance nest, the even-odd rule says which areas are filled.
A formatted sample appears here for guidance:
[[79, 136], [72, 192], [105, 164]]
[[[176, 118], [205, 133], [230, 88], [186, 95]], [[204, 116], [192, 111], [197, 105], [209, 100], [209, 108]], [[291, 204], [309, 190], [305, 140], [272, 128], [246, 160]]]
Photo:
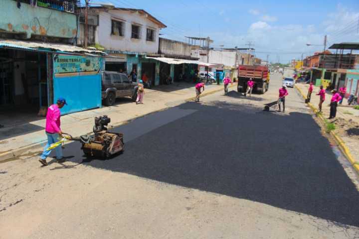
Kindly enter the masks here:
[[101, 107], [104, 60], [89, 53], [64, 44], [0, 41], [1, 113], [43, 116], [60, 96], [68, 102], [62, 114]]

